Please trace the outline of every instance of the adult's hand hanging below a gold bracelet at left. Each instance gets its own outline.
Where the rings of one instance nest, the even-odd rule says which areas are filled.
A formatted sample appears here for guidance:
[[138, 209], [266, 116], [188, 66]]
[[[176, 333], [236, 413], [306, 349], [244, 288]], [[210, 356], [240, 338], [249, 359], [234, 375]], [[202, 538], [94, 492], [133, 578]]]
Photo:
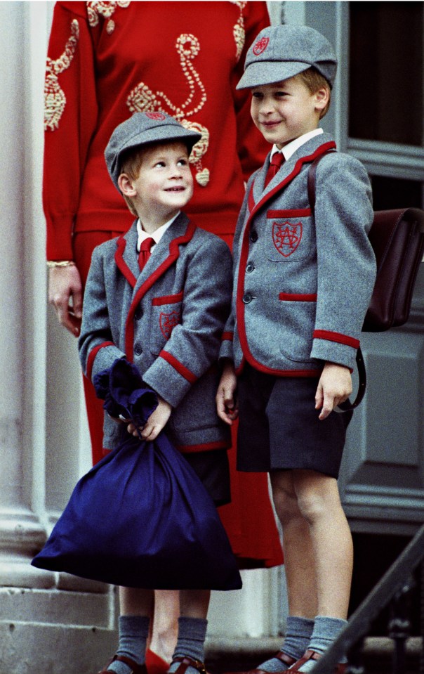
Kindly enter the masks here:
[[54, 306], [60, 325], [78, 337], [81, 332], [82, 283], [75, 265], [48, 270], [48, 302]]

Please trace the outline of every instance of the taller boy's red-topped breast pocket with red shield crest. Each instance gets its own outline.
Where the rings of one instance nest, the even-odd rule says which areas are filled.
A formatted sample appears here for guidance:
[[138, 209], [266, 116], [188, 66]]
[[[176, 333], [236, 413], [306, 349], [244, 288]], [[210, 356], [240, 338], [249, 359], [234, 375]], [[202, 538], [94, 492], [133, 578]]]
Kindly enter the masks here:
[[310, 208], [269, 210], [265, 233], [266, 256], [273, 262], [298, 262], [314, 253]]

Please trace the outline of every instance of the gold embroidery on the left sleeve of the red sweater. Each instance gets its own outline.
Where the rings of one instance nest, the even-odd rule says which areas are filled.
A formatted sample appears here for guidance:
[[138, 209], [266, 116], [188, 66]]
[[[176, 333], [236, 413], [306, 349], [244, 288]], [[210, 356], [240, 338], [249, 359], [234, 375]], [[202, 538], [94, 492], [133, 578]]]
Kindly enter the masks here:
[[65, 51], [59, 58], [53, 60], [47, 58], [46, 79], [44, 82], [44, 130], [54, 131], [58, 129], [60, 117], [63, 115], [66, 105], [65, 92], [60, 89], [58, 75], [69, 68], [79, 40], [79, 23], [77, 19], [71, 22], [71, 36], [69, 37]]

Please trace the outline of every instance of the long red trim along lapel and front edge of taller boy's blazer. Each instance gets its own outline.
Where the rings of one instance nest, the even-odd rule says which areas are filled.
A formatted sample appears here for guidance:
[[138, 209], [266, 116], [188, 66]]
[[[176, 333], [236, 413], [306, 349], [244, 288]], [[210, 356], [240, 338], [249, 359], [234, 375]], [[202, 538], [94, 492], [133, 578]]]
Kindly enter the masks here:
[[[244, 233], [243, 233], [243, 238], [241, 240], [241, 254], [240, 254], [240, 261], [239, 261], [239, 278], [237, 280], [237, 301], [236, 301], [236, 307], [237, 307], [237, 322], [239, 325], [239, 339], [240, 339], [240, 344], [241, 344], [241, 349], [244, 354], [244, 358], [246, 358], [246, 361], [252, 365], [253, 368], [256, 368], [256, 370], [259, 370], [260, 372], [267, 372], [267, 374], [270, 375], [277, 375], [278, 377], [319, 377], [320, 375], [320, 370], [277, 370], [273, 368], [267, 368], [266, 365], [263, 365], [262, 363], [259, 363], [259, 361], [256, 361], [256, 358], [253, 357], [251, 354], [251, 351], [249, 349], [249, 344], [247, 342], [247, 337], [246, 337], [246, 325], [244, 323], [244, 303], [242, 301], [242, 297], [244, 295], [244, 269], [246, 268], [247, 264], [247, 258], [249, 257], [249, 234], [250, 234], [250, 226], [251, 226], [251, 221], [253, 220], [253, 217], [256, 215], [258, 210], [263, 207], [264, 204], [266, 204], [267, 201], [272, 199], [272, 197], [281, 190], [282, 187], [284, 187], [287, 183], [293, 180], [293, 178], [296, 178], [296, 176], [300, 173], [300, 169], [303, 167], [303, 164], [307, 162], [313, 162], [314, 159], [319, 157], [320, 155], [328, 152], [328, 150], [331, 150], [333, 148], [336, 148], [336, 143], [334, 141], [329, 141], [329, 143], [323, 143], [322, 145], [317, 148], [317, 150], [312, 153], [312, 155], [307, 155], [307, 157], [300, 157], [298, 161], [296, 162], [293, 171], [291, 171], [291, 174], [289, 176], [286, 176], [281, 183], [279, 183], [277, 186], [272, 188], [270, 192], [268, 192], [266, 195], [258, 201], [256, 206], [252, 209], [251, 213], [249, 214], [249, 217], [246, 222], [246, 226], [244, 228]], [[240, 368], [238, 368], [237, 373], [241, 372], [242, 365], [240, 365]]]

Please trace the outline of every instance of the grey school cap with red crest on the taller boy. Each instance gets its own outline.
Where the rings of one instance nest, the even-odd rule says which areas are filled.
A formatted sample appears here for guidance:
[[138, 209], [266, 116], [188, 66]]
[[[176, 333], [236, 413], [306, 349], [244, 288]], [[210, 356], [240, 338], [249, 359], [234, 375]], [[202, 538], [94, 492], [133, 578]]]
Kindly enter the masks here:
[[337, 58], [324, 35], [309, 26], [270, 26], [249, 48], [237, 89], [281, 82], [311, 66], [333, 86]]

